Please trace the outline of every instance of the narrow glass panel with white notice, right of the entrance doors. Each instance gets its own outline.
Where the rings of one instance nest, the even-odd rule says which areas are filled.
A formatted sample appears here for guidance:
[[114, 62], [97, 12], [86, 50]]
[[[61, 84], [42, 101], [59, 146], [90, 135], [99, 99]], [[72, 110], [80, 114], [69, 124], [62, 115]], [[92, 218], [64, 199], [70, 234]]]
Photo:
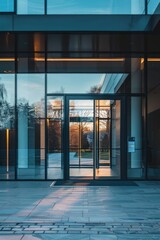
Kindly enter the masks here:
[[141, 97], [127, 99], [128, 178], [144, 177], [143, 109]]

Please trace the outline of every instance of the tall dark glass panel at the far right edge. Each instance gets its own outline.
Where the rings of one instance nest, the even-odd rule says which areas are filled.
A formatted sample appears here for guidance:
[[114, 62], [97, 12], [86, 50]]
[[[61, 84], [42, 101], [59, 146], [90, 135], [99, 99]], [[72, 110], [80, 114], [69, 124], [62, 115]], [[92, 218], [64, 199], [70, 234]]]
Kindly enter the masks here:
[[150, 58], [148, 70], [148, 178], [160, 179], [160, 65]]

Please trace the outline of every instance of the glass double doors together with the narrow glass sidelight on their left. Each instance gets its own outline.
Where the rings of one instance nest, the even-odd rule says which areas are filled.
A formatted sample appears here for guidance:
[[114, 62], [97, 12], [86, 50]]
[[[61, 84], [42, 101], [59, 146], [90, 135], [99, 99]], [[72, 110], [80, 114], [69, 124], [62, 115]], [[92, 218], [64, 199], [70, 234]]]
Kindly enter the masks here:
[[121, 178], [120, 99], [48, 96], [48, 177]]

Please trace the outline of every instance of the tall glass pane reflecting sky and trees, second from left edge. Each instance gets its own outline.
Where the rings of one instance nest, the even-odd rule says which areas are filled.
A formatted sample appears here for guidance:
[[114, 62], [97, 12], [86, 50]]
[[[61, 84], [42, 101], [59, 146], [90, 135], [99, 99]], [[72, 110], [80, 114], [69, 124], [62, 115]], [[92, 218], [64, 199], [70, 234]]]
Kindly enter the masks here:
[[19, 179], [44, 179], [44, 80], [44, 74], [17, 75]]

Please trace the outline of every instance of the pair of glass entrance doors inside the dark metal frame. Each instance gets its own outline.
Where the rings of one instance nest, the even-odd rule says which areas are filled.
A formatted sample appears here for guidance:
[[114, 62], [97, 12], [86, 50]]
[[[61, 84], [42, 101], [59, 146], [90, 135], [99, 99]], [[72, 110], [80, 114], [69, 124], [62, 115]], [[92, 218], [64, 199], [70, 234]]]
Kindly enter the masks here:
[[70, 178], [119, 179], [121, 101], [72, 98], [68, 106]]

